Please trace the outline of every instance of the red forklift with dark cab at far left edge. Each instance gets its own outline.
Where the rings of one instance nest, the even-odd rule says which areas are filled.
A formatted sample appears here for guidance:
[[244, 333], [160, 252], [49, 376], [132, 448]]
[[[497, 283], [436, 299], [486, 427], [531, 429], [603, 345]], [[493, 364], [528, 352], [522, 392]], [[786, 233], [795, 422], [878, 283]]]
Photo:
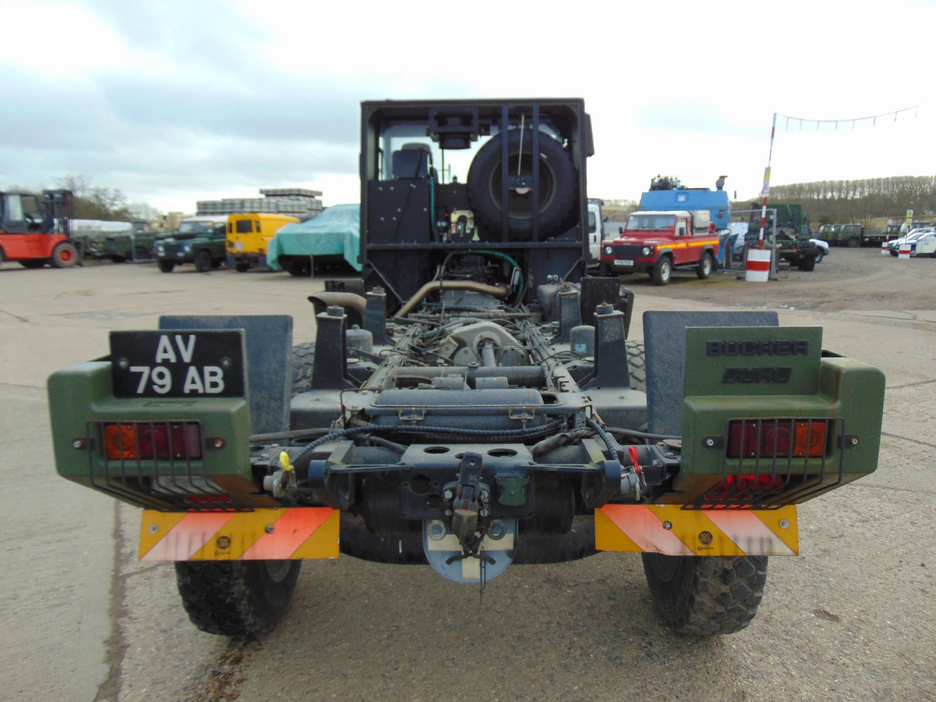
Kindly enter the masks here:
[[71, 241], [72, 194], [69, 190], [34, 193], [0, 192], [0, 262], [19, 261], [23, 268], [70, 268], [80, 263]]

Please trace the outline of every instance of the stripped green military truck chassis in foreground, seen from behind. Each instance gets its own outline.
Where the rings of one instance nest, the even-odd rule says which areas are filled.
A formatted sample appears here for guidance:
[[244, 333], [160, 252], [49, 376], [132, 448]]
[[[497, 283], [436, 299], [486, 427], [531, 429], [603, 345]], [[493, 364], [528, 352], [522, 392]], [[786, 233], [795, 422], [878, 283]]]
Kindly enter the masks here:
[[315, 343], [197, 300], [111, 332], [49, 379], [59, 474], [144, 508], [140, 558], [213, 634], [271, 630], [303, 560], [483, 592], [599, 550], [642, 554], [674, 631], [748, 626], [797, 505], [875, 470], [884, 374], [767, 311], [631, 339], [633, 293], [587, 274], [582, 100], [361, 107], [363, 268], [312, 296]]

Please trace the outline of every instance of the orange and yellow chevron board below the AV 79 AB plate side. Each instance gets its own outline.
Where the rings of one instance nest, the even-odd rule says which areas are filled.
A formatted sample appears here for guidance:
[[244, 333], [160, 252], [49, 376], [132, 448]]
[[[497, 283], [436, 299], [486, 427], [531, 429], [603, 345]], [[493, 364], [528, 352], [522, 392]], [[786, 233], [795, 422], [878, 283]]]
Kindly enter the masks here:
[[253, 512], [143, 511], [140, 561], [338, 558], [341, 513], [329, 507]]

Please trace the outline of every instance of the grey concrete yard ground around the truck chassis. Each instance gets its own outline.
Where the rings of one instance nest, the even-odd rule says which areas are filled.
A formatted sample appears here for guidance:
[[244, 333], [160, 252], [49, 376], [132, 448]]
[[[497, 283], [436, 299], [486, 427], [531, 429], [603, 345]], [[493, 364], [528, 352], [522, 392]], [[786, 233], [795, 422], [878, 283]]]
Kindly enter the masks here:
[[[476, 588], [428, 567], [307, 562], [271, 636], [232, 643], [197, 632], [171, 565], [135, 560], [139, 510], [55, 475], [45, 379], [107, 353], [110, 329], [153, 329], [169, 312], [293, 314], [296, 342], [310, 341], [305, 297], [321, 282], [4, 264], [0, 697], [936, 698], [936, 261], [878, 256], [837, 249], [815, 273], [763, 285], [625, 281], [636, 288], [638, 313], [778, 309], [783, 325], [822, 326], [826, 348], [887, 376], [878, 471], [800, 508], [801, 555], [770, 560], [748, 629], [710, 640], [668, 634], [653, 616], [639, 558], [610, 553], [517, 566], [488, 584], [483, 602]], [[894, 285], [879, 285], [885, 279]], [[789, 309], [811, 306], [810, 285], [835, 303]], [[698, 300], [715, 289], [714, 303]], [[639, 324], [632, 331], [638, 337]]]

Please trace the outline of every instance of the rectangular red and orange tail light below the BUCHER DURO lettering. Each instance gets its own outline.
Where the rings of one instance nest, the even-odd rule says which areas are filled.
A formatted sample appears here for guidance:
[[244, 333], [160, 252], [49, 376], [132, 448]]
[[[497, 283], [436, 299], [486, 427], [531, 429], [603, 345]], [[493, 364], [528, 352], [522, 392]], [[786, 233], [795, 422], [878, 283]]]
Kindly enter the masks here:
[[[728, 423], [727, 457], [729, 459], [821, 458], [826, 455], [827, 434], [828, 422], [825, 419], [732, 421]], [[745, 477], [754, 476], [741, 475], [741, 478]]]

